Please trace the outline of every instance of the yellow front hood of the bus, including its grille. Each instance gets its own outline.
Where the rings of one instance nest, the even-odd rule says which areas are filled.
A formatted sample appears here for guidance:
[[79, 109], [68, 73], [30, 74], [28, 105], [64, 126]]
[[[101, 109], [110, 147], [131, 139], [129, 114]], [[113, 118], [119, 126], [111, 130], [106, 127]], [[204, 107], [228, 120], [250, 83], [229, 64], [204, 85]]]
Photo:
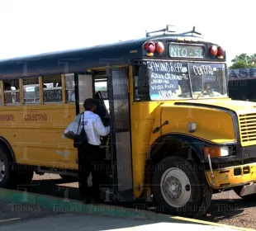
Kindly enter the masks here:
[[[235, 130], [232, 116], [229, 113], [223, 113], [225, 110], [234, 111], [238, 115], [239, 131]], [[173, 104], [171, 102], [162, 104], [157, 111], [158, 119], [155, 127], [168, 120], [168, 124], [161, 127], [162, 134], [187, 134], [223, 144], [237, 141], [236, 136], [239, 132], [242, 146], [256, 144], [255, 102], [232, 101], [229, 98], [176, 101]], [[197, 131], [192, 134], [188, 130], [189, 122], [197, 124]], [[250, 132], [248, 135], [247, 130], [251, 129], [255, 132]]]

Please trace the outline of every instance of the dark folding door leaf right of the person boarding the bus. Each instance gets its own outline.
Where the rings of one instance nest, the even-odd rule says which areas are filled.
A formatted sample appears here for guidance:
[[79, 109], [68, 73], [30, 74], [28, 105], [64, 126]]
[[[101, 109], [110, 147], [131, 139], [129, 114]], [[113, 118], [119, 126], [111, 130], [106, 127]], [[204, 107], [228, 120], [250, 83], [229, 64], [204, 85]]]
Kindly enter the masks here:
[[113, 193], [120, 201], [133, 198], [127, 79], [128, 68], [107, 68]]

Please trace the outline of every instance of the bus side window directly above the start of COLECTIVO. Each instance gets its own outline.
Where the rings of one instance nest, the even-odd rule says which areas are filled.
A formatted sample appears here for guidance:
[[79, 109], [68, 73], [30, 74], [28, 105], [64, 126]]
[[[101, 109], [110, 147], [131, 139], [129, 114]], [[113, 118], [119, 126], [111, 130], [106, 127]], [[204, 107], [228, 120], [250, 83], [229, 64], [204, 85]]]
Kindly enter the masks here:
[[23, 102], [27, 104], [40, 103], [40, 85], [39, 78], [25, 78], [23, 79]]

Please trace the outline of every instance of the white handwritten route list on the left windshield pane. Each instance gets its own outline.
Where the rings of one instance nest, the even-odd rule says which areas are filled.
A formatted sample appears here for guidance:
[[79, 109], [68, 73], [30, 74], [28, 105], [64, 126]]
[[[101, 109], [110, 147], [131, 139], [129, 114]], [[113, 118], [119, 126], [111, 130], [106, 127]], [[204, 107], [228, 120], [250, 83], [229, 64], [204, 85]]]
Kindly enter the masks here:
[[189, 82], [186, 63], [147, 61], [147, 65], [152, 72], [149, 82], [150, 95], [171, 98], [173, 93], [178, 91], [180, 81]]

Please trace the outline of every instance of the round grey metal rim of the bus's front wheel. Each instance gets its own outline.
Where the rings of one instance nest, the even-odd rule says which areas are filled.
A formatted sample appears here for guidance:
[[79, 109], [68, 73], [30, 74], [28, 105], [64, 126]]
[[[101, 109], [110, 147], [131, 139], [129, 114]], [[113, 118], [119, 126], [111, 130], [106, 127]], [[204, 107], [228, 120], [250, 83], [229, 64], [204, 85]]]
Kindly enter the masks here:
[[179, 208], [187, 204], [191, 196], [191, 184], [183, 170], [168, 168], [161, 177], [161, 193], [168, 205]]

